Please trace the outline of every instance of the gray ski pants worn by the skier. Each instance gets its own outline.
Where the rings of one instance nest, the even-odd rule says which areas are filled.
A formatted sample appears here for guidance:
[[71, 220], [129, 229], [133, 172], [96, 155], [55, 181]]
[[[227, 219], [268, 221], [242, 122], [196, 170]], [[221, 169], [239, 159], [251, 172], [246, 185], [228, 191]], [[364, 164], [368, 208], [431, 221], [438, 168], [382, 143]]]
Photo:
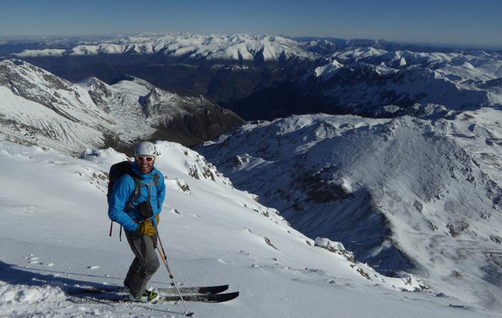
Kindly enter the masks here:
[[155, 254], [152, 237], [128, 231], [125, 231], [125, 237], [135, 258], [125, 276], [124, 285], [127, 285], [129, 292], [137, 297], [145, 293], [148, 280], [157, 271], [160, 263]]

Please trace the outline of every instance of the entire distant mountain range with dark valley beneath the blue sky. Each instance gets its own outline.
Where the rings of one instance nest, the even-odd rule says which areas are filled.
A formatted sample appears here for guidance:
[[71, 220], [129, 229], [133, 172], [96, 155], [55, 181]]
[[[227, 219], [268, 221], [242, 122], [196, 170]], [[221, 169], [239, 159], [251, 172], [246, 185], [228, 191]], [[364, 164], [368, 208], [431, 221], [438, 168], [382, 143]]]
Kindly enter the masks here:
[[247, 120], [319, 112], [396, 117], [420, 105], [447, 112], [502, 101], [500, 52], [432, 52], [385, 40], [168, 33], [62, 49], [51, 43], [12, 56], [71, 81], [94, 76], [113, 84], [128, 74], [203, 95]]

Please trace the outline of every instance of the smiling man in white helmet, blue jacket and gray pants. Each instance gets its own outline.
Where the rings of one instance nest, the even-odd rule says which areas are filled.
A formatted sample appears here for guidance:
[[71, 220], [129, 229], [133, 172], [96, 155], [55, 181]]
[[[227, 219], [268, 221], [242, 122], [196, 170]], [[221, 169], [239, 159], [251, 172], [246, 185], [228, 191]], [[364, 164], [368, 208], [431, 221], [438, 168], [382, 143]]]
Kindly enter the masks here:
[[[136, 302], [155, 302], [159, 299], [153, 288], [147, 288], [148, 280], [160, 266], [154, 240], [157, 239], [156, 228], [165, 198], [165, 183], [162, 173], [154, 167], [158, 155], [155, 144], [138, 144], [135, 148], [135, 162], [130, 165], [137, 181], [130, 174], [123, 174], [118, 178], [113, 184], [108, 208], [108, 217], [123, 226], [125, 237], [135, 255], [125, 276], [124, 290], [129, 291], [129, 300]], [[139, 197], [134, 202], [129, 202], [136, 184], [140, 185]]]

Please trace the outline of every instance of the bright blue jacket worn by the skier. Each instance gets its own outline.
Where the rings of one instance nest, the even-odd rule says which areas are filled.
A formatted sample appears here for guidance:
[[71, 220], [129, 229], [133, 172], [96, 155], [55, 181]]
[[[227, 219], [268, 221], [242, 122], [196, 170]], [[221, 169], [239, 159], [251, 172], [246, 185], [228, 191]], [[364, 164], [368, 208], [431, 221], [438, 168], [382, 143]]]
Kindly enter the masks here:
[[[131, 176], [124, 174], [113, 183], [113, 191], [110, 195], [110, 203], [108, 205], [108, 217], [122, 225], [124, 229], [135, 232], [138, 230], [138, 224], [135, 221], [143, 220], [141, 214], [136, 210], [136, 205], [142, 203], [148, 198], [148, 191], [150, 191], [150, 205], [152, 205], [153, 217], [150, 217], [153, 224], [156, 225], [155, 215], [160, 213], [162, 203], [166, 195], [166, 187], [164, 183], [164, 176], [160, 171], [154, 168], [149, 174], [141, 174], [138, 169], [138, 164], [135, 162], [131, 164], [130, 169], [138, 177], [142, 186], [140, 197], [132, 203], [132, 208], [125, 211], [125, 205], [128, 203], [129, 198], [134, 193], [135, 183]], [[155, 188], [155, 180], [153, 176], [158, 174], [159, 186]]]

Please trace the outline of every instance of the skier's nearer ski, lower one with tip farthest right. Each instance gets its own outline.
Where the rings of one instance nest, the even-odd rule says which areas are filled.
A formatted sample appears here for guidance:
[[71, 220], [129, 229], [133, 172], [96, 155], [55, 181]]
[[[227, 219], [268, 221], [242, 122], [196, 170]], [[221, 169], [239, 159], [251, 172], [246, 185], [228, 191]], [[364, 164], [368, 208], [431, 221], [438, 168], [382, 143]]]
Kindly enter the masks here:
[[[229, 300], [233, 300], [239, 296], [239, 292], [234, 293], [224, 293], [224, 294], [208, 294], [208, 295], [184, 295], [183, 300], [186, 302], [228, 302]], [[83, 295], [83, 297], [79, 297], [79, 295], [74, 295], [67, 299], [70, 302], [75, 303], [86, 303], [86, 302], [94, 302], [99, 304], [114, 304], [114, 303], [136, 303], [128, 300], [124, 295], [119, 294], [111, 294], [106, 295], [106, 297], [100, 298], [96, 296], [87, 296]], [[153, 304], [159, 304], [162, 302], [178, 302], [182, 300], [181, 297], [176, 295], [171, 296], [162, 296], [160, 300], [154, 302]], [[141, 304], [141, 302], [138, 302]]]

